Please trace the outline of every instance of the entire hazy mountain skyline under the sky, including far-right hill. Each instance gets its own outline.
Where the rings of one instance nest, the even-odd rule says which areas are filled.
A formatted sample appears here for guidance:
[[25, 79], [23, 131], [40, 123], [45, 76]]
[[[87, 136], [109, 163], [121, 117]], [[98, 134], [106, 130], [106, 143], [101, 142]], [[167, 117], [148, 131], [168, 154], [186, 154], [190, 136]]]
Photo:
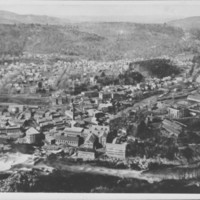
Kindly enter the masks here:
[[[116, 20], [113, 17], [106, 18], [102, 16], [99, 17], [86, 17], [86, 16], [69, 16], [69, 18], [62, 17], [52, 17], [47, 15], [21, 15], [14, 12], [4, 11], [0, 10], [0, 24], [42, 24], [42, 25], [66, 25], [69, 23], [102, 23], [102, 22], [108, 22], [108, 23], [116, 23], [119, 20], [119, 23], [139, 23], [139, 24], [153, 24], [152, 19], [146, 19], [146, 17], [139, 16], [135, 18], [134, 16], [131, 18], [123, 17], [120, 21], [120, 16], [116, 16]], [[105, 21], [102, 21], [104, 19]], [[132, 19], [132, 22], [130, 21]], [[113, 20], [113, 21], [112, 21]], [[127, 20], [127, 21], [126, 21]], [[142, 20], [144, 21], [142, 23]], [[162, 24], [162, 20], [158, 21], [155, 19], [155, 24]], [[163, 23], [164, 24], [164, 23]], [[191, 30], [191, 29], [200, 29], [200, 16], [194, 16], [194, 17], [187, 17], [187, 18], [181, 18], [177, 20], [171, 20], [167, 21], [165, 24], [168, 26], [178, 27], [182, 28], [183, 30]]]

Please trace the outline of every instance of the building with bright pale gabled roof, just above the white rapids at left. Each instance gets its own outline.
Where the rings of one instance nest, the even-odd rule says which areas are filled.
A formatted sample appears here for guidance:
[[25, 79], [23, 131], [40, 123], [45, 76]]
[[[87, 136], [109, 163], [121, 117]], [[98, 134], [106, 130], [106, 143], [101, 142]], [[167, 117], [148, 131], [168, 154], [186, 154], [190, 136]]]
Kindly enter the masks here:
[[31, 127], [26, 131], [26, 142], [28, 144], [38, 144], [41, 141], [41, 135], [40, 132]]

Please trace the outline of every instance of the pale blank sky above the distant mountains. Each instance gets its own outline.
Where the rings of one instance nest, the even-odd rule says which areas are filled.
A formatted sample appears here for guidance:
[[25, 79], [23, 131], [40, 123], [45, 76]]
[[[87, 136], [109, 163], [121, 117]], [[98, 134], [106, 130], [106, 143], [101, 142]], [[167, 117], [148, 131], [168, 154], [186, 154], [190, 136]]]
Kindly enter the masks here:
[[132, 21], [200, 16], [200, 1], [65, 1], [0, 0], [0, 10], [56, 17], [103, 18]]

